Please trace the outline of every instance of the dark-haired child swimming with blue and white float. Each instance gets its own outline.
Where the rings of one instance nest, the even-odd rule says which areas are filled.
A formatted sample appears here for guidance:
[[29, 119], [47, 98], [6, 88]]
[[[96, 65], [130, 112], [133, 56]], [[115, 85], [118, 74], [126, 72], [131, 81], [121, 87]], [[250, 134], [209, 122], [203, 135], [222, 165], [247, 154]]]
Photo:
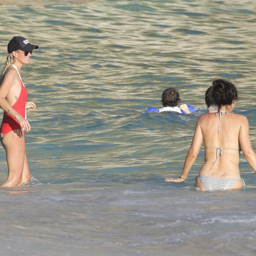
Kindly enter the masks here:
[[187, 104], [182, 104], [178, 107], [177, 105], [180, 102], [181, 98], [179, 92], [174, 88], [168, 88], [162, 93], [161, 103], [163, 105], [163, 108], [156, 109], [154, 107], [151, 107], [145, 112], [176, 112], [180, 114], [190, 114], [196, 110], [196, 108]]

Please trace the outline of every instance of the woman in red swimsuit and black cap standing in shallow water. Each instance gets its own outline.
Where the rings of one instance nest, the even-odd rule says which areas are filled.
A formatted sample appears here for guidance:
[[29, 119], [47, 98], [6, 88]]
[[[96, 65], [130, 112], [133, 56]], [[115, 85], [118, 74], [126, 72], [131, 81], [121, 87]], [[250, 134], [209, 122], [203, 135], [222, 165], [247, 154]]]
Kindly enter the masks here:
[[26, 109], [35, 109], [34, 102], [26, 102], [27, 91], [20, 77], [24, 64], [38, 45], [23, 37], [14, 37], [8, 43], [8, 56], [0, 75], [0, 107], [4, 117], [0, 128], [1, 143], [6, 151], [8, 178], [1, 187], [15, 187], [30, 181], [30, 170], [25, 151], [25, 132], [30, 132]]

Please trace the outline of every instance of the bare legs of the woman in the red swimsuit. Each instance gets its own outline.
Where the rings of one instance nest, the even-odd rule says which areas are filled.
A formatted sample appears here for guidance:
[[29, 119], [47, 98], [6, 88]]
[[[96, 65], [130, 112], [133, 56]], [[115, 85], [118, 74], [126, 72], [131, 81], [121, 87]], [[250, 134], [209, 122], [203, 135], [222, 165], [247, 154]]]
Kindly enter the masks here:
[[[15, 187], [30, 177], [22, 130], [8, 132], [2, 139], [8, 164], [8, 178], [0, 187]], [[23, 175], [24, 169], [24, 175]], [[28, 175], [29, 173], [29, 175]], [[24, 183], [24, 182], [23, 182]]]

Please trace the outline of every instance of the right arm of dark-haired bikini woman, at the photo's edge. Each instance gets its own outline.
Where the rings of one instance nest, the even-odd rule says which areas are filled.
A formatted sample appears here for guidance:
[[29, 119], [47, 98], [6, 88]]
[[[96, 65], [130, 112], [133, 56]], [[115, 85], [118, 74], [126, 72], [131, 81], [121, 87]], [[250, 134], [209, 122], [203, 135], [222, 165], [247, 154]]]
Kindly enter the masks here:
[[239, 143], [241, 150], [247, 160], [248, 164], [256, 172], [256, 154], [252, 149], [252, 144], [249, 136], [249, 123], [246, 117], [242, 118], [242, 124], [239, 131]]

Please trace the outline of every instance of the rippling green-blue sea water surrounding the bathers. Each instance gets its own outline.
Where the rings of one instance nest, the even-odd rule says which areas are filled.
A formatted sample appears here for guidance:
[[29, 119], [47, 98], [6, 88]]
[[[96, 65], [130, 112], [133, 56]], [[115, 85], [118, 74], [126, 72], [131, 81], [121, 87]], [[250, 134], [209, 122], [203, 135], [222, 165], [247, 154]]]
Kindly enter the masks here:
[[[205, 91], [239, 90], [235, 113], [256, 149], [256, 3], [250, 0], [58, 1], [0, 5], [0, 60], [22, 35], [40, 48], [22, 70], [32, 131], [25, 187], [0, 189], [1, 255], [255, 255], [256, 174], [241, 191], [199, 192], [204, 151], [181, 174]], [[161, 108], [179, 90], [195, 113]], [[7, 177], [0, 149], [0, 180]]]

